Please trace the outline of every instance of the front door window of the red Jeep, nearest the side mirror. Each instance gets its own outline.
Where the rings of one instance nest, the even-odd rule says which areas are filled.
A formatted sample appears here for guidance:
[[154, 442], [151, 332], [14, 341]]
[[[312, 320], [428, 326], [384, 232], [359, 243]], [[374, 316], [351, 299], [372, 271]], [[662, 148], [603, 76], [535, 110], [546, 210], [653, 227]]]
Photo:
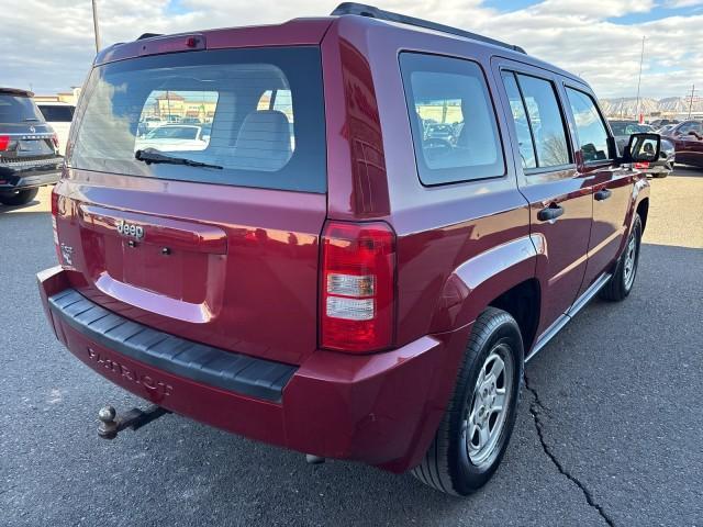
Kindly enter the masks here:
[[[567, 88], [569, 104], [576, 121], [576, 131], [579, 136], [579, 147], [583, 161], [602, 161], [607, 155], [607, 128], [601, 119], [595, 102], [591, 96], [582, 91]], [[626, 135], [638, 132], [636, 124], [628, 125]]]

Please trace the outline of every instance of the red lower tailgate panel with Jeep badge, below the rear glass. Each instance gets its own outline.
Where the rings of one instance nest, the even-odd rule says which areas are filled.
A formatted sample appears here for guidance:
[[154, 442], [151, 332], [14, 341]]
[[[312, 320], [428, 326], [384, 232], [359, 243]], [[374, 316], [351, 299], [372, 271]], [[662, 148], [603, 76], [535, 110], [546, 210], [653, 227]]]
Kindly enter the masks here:
[[295, 365], [315, 349], [324, 194], [130, 187], [80, 171], [56, 187], [62, 264], [81, 294], [217, 348]]

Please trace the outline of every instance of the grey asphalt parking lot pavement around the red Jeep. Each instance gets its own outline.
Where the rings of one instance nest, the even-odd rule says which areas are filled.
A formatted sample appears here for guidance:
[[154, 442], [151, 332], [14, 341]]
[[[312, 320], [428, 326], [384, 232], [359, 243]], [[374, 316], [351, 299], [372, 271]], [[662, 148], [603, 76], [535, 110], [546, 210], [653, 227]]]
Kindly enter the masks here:
[[651, 184], [632, 295], [592, 302], [528, 365], [505, 460], [465, 500], [175, 415], [98, 439], [98, 408], [141, 401], [44, 319], [48, 190], [0, 205], [0, 524], [703, 526], [703, 172]]

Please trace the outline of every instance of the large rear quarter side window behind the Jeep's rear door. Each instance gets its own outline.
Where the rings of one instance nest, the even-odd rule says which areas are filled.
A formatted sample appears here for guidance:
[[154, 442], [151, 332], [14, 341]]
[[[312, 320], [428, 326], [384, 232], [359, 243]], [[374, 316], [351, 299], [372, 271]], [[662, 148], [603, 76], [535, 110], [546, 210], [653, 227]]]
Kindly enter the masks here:
[[495, 111], [481, 68], [458, 58], [403, 53], [401, 72], [417, 171], [424, 184], [505, 173]]

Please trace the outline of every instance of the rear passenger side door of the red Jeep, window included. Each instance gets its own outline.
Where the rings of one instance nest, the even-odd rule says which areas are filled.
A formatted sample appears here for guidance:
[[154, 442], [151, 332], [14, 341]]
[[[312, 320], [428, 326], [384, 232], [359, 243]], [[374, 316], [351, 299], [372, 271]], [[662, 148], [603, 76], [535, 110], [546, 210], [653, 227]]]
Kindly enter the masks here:
[[573, 303], [587, 265], [591, 190], [573, 159], [556, 78], [549, 71], [501, 59], [494, 63], [511, 109], [513, 149], [520, 156], [521, 192], [529, 202], [531, 232], [543, 257], [537, 278], [543, 292], [538, 335]]

